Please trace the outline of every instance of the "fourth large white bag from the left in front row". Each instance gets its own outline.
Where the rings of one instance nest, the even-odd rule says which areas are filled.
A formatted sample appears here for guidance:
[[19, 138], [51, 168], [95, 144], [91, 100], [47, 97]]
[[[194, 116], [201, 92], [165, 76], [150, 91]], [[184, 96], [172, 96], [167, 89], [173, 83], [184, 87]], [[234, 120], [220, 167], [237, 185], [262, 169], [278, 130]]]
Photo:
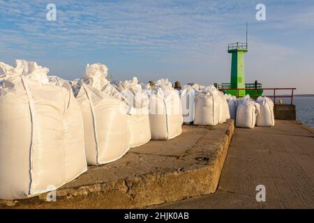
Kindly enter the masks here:
[[154, 86], [151, 90], [149, 98], [151, 139], [173, 139], [182, 133], [181, 100], [179, 93], [171, 88], [162, 89], [160, 86]]

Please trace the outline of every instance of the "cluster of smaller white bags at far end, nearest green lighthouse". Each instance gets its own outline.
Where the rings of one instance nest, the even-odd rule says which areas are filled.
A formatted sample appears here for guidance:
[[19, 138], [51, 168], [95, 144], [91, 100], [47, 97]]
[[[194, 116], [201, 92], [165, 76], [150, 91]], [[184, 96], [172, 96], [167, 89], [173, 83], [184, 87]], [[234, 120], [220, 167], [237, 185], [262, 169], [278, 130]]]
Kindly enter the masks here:
[[256, 102], [249, 95], [237, 99], [214, 86], [196, 84], [184, 86], [180, 96], [186, 124], [214, 126], [232, 118], [239, 128], [275, 125], [274, 102], [267, 97], [259, 97]]

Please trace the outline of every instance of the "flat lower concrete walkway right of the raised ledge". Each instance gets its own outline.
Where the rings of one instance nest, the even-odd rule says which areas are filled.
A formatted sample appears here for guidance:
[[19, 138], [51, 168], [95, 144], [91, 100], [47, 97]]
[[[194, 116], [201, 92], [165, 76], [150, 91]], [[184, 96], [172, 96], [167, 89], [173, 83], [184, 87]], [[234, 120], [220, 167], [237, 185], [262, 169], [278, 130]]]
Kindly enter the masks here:
[[[257, 185], [266, 202], [257, 202]], [[314, 130], [297, 121], [236, 128], [215, 194], [157, 208], [314, 208]]]

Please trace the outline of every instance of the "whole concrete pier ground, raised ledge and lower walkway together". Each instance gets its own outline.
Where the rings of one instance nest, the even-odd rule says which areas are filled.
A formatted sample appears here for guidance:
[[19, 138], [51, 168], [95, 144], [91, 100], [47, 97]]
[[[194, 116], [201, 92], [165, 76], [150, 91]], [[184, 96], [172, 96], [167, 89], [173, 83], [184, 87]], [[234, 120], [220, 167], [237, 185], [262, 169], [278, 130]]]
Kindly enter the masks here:
[[[183, 130], [89, 167], [57, 190], [56, 202], [43, 194], [0, 208], [314, 208], [312, 128], [276, 120], [274, 128], [234, 130], [228, 121]], [[257, 185], [266, 201], [256, 200]]]

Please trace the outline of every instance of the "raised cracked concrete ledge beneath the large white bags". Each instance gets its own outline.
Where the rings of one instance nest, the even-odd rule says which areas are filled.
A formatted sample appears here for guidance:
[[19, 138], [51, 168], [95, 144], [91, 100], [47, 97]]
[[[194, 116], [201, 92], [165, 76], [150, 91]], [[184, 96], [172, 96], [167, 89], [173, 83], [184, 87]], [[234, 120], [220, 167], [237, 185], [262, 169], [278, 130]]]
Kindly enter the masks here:
[[0, 201], [0, 208], [140, 208], [216, 191], [234, 121], [214, 128], [184, 125], [181, 136], [149, 141], [123, 158], [87, 173], [57, 190], [19, 201]]

